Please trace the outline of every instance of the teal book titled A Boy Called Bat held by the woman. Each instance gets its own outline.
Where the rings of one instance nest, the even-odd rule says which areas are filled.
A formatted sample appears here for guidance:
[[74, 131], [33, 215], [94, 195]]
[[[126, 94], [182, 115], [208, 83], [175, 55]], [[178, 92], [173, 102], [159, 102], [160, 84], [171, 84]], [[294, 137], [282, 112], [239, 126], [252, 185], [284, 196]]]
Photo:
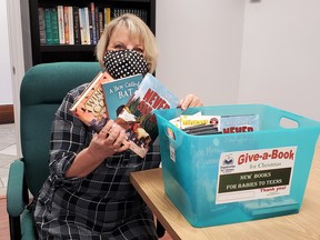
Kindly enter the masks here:
[[142, 81], [142, 74], [102, 83], [109, 118], [116, 120]]

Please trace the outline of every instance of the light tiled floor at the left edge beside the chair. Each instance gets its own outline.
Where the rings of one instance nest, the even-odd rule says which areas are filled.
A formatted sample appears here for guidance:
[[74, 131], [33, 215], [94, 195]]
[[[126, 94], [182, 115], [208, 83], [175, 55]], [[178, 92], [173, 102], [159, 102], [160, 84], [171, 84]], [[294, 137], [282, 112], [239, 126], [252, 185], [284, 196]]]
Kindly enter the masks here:
[[0, 197], [7, 193], [10, 163], [17, 159], [14, 124], [0, 124]]

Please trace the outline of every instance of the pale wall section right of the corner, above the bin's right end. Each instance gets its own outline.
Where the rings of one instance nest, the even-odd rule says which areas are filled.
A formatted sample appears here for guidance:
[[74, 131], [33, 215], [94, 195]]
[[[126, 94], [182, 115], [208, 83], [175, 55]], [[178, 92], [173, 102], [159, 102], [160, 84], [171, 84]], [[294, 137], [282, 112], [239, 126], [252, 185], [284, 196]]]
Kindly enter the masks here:
[[239, 102], [320, 121], [320, 1], [246, 0]]

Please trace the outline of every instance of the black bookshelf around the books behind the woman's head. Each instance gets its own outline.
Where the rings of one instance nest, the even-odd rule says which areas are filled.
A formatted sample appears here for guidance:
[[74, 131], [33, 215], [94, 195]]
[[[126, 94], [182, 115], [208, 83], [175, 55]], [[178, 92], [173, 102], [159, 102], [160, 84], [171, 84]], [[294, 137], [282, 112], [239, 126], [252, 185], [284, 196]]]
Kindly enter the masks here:
[[[94, 48], [96, 43], [43, 43], [40, 42], [40, 24], [39, 24], [39, 8], [42, 9], [57, 9], [58, 6], [70, 6], [78, 8], [89, 8], [93, 2], [98, 12], [103, 13], [104, 9], [109, 8], [111, 19], [119, 12], [133, 11], [133, 13], [141, 14], [143, 20], [149, 26], [151, 31], [156, 34], [156, 0], [29, 0], [30, 10], [30, 26], [31, 26], [31, 47], [32, 47], [32, 64], [43, 62], [58, 62], [58, 61], [96, 61]], [[77, 8], [76, 8], [76, 11]], [[141, 13], [142, 12], [142, 13]], [[91, 18], [91, 17], [89, 17]], [[97, 17], [99, 19], [99, 17]], [[43, 20], [44, 21], [44, 20]], [[40, 18], [41, 22], [41, 18]], [[101, 27], [100, 27], [101, 28]], [[42, 28], [43, 29], [43, 28]], [[99, 36], [97, 36], [99, 38]]]

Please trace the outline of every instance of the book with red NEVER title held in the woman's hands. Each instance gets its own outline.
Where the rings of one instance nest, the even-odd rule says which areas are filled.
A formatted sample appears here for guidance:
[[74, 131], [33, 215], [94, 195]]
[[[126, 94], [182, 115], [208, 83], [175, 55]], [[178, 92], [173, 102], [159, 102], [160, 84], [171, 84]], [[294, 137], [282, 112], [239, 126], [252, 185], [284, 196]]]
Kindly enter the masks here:
[[177, 108], [179, 99], [157, 78], [147, 73], [138, 90], [132, 94], [116, 119], [131, 141], [130, 149], [143, 158], [149, 143], [158, 137], [154, 109]]

